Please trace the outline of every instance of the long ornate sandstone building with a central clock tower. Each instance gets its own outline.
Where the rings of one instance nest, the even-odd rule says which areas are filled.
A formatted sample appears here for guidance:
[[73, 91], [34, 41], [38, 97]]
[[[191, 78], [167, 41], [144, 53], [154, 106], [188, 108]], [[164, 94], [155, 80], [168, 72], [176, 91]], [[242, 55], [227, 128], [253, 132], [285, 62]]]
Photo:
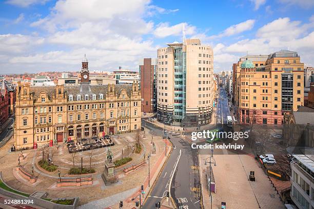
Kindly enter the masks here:
[[141, 128], [139, 83], [90, 85], [88, 60], [81, 84], [32, 87], [17, 85], [14, 138], [16, 149], [40, 147], [50, 140], [79, 141]]

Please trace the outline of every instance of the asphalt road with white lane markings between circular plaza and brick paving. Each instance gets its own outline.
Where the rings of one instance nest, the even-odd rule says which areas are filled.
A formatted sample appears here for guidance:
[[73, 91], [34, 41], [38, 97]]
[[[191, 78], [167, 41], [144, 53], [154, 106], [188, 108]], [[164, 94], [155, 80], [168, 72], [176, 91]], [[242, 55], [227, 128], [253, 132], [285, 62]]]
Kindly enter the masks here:
[[[142, 123], [153, 134], [163, 135], [162, 128], [146, 120], [142, 120]], [[155, 203], [161, 201], [169, 189], [178, 207], [183, 205], [189, 209], [201, 208], [198, 151], [192, 150], [190, 144], [180, 137], [170, 136], [170, 141], [173, 144], [173, 151], [142, 208], [155, 208]]]

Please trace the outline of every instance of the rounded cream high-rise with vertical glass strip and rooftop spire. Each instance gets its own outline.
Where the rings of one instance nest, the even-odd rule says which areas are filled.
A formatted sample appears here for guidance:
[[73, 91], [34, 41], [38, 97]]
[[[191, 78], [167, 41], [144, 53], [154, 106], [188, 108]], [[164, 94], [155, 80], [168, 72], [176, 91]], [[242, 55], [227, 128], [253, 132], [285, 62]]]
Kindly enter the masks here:
[[213, 52], [199, 39], [174, 41], [158, 49], [157, 117], [176, 126], [211, 121]]

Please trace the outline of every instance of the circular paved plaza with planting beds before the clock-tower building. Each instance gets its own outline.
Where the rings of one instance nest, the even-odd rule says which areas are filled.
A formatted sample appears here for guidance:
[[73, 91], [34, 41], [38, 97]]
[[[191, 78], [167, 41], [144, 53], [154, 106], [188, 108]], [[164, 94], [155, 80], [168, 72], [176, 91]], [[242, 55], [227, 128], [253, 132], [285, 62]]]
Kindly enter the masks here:
[[[123, 156], [132, 157], [132, 161], [128, 162], [125, 165], [120, 166], [115, 169], [115, 173], [119, 178], [119, 182], [112, 185], [105, 185], [101, 177], [102, 172], [104, 171], [104, 160], [106, 158], [108, 148], [100, 148], [93, 150], [92, 157], [92, 166], [95, 167], [96, 173], [91, 174], [93, 178], [93, 185], [88, 186], [74, 186], [74, 187], [56, 187], [56, 180], [58, 178], [58, 173], [53, 172], [43, 172], [34, 166], [34, 173], [38, 177], [39, 183], [29, 184], [27, 181], [21, 179], [21, 176], [18, 174], [14, 175], [14, 170], [17, 166], [17, 156], [19, 152], [11, 153], [9, 152], [13, 144], [13, 139], [11, 139], [3, 148], [0, 149], [0, 159], [2, 162], [2, 175], [4, 181], [11, 187], [16, 190], [33, 193], [35, 191], [45, 191], [48, 192], [49, 197], [78, 197], [80, 208], [88, 208], [88, 206], [93, 206], [93, 208], [104, 208], [104, 205], [110, 206], [111, 204], [116, 204], [120, 200], [124, 200], [132, 195], [134, 192], [138, 191], [141, 187], [141, 184], [145, 182], [148, 176], [148, 165], [142, 166], [140, 169], [125, 174], [123, 168], [126, 168], [132, 164], [139, 163], [144, 160], [147, 161], [147, 155], [152, 151], [151, 145], [151, 134], [148, 131], [145, 131], [145, 137], [143, 137], [144, 132], [142, 131], [141, 143], [142, 143], [142, 152], [140, 154], [132, 153], [129, 149], [127, 150], [127, 144], [132, 145], [136, 143], [136, 132], [121, 134], [119, 138], [114, 136], [113, 141], [114, 146], [110, 147], [113, 153], [113, 161], [121, 159], [122, 150]], [[156, 145], [156, 154], [152, 154], [150, 158], [150, 175], [154, 176], [159, 172], [160, 163], [164, 161], [165, 155], [165, 141], [162, 140], [162, 137], [153, 136], [153, 142]], [[168, 143], [169, 145], [169, 143]], [[50, 148], [47, 148], [47, 151]], [[168, 151], [169, 148], [167, 148]], [[68, 176], [67, 173], [70, 168], [73, 167], [72, 154], [68, 153], [68, 150], [64, 144], [58, 144], [58, 146], [52, 147], [50, 151], [53, 153], [52, 161], [54, 164], [59, 165], [61, 168], [61, 177]], [[83, 166], [89, 167], [89, 153], [90, 151], [78, 152], [74, 157], [74, 164], [76, 167], [81, 166], [81, 157], [83, 157]], [[24, 160], [21, 160], [21, 165], [24, 166], [25, 170], [31, 172], [32, 163], [36, 164], [36, 161], [42, 159], [41, 148], [35, 150], [23, 151], [25, 156]], [[157, 162], [157, 163], [156, 163]], [[156, 166], [154, 166], [156, 164]], [[155, 167], [155, 168], [154, 168]], [[154, 169], [153, 169], [154, 168]], [[77, 175], [76, 175], [77, 176]], [[88, 175], [84, 175], [88, 176]], [[106, 204], [104, 204], [106, 203]], [[87, 205], [85, 205], [87, 204]]]

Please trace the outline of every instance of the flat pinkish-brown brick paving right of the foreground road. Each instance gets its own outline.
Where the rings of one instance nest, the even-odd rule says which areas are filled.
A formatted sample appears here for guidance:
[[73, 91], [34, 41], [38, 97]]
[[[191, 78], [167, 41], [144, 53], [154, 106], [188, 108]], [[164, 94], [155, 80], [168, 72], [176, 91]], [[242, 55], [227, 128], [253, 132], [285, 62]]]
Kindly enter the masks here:
[[[205, 178], [206, 166], [203, 162], [208, 156], [200, 155], [202, 193], [205, 208], [210, 208], [208, 183]], [[216, 193], [212, 194], [212, 207], [221, 208], [226, 202], [227, 208], [251, 209], [285, 208], [279, 195], [272, 187], [256, 160], [247, 155], [214, 155], [217, 166], [212, 166]], [[255, 172], [256, 181], [248, 181], [250, 171]]]

